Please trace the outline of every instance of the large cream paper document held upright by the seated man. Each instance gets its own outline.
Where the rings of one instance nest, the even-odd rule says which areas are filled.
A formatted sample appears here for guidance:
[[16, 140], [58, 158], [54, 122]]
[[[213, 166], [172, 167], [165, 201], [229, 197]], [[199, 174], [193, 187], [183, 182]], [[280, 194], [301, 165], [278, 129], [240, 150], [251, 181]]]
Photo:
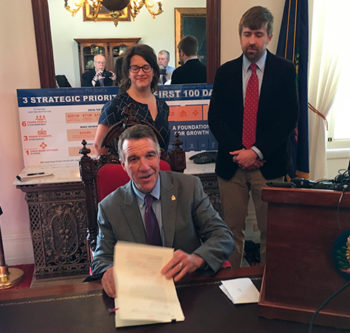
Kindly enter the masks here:
[[173, 249], [119, 241], [114, 249], [115, 326], [183, 321], [174, 281], [160, 270]]

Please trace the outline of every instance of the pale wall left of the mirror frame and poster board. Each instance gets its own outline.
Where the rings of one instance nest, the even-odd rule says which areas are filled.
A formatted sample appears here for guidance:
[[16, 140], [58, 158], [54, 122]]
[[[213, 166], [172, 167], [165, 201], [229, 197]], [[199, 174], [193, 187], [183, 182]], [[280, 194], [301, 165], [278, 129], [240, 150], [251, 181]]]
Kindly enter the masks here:
[[40, 88], [33, 15], [28, 0], [9, 1], [0, 20], [0, 217], [8, 264], [33, 262], [24, 194], [12, 182], [23, 168], [16, 89]]

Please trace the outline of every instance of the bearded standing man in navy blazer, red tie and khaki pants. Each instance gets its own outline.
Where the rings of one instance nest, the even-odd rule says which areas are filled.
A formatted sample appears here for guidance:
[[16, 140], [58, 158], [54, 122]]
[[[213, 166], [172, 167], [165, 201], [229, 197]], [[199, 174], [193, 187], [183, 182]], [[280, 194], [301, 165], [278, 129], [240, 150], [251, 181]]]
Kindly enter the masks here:
[[215, 171], [224, 219], [236, 245], [229, 259], [233, 267], [241, 265], [244, 253], [249, 193], [261, 234], [260, 260], [265, 263], [267, 204], [261, 189], [266, 180], [283, 180], [287, 141], [297, 122], [295, 67], [266, 49], [272, 27], [273, 16], [266, 8], [256, 6], [242, 16], [243, 54], [217, 70], [209, 107], [209, 127], [219, 144]]

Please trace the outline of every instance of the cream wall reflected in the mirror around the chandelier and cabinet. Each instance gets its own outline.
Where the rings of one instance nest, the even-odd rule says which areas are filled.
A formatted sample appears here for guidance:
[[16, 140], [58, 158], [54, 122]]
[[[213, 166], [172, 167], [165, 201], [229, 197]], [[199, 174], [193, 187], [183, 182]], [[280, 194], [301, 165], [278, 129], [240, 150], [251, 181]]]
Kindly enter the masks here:
[[152, 46], [156, 53], [162, 49], [168, 50], [171, 55], [170, 65], [174, 66], [174, 8], [206, 6], [206, 0], [166, 0], [163, 1], [164, 12], [155, 19], [146, 8], [142, 8], [134, 22], [121, 21], [115, 27], [113, 22], [84, 22], [82, 9], [72, 18], [64, 8], [63, 1], [48, 0], [48, 3], [55, 71], [56, 74], [65, 74], [72, 87], [80, 87], [78, 44], [74, 39], [141, 37], [140, 42]]

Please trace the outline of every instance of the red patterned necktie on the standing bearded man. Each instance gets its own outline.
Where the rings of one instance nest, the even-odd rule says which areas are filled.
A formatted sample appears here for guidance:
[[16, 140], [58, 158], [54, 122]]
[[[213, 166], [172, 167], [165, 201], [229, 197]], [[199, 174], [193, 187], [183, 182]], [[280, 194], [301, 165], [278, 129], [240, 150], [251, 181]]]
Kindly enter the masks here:
[[242, 143], [246, 149], [250, 149], [256, 138], [256, 115], [259, 105], [259, 80], [256, 75], [256, 64], [251, 64], [252, 71], [248, 80], [244, 100], [243, 136]]

